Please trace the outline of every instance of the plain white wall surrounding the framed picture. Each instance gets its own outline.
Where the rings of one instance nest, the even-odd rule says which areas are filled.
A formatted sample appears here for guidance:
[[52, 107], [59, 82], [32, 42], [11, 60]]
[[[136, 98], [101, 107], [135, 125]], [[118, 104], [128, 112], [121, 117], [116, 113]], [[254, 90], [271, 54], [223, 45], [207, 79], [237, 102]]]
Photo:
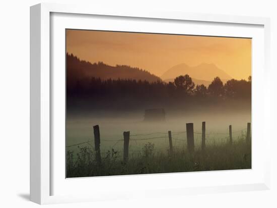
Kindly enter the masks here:
[[[271, 122], [276, 116], [277, 90], [277, 6], [275, 1], [251, 0], [190, 0], [190, 1], [44, 1], [54, 3], [90, 3], [107, 8], [159, 8], [193, 13], [214, 13], [271, 18]], [[0, 206], [35, 207], [29, 201], [29, 7], [37, 0], [2, 1], [0, 12]], [[275, 86], [273, 86], [275, 85]], [[95, 203], [59, 204], [50, 207], [277, 207], [277, 145], [271, 126], [272, 177], [271, 190], [222, 194], [186, 195], [176, 198], [147, 198], [143, 200]], [[93, 187], [92, 187], [93, 188]]]

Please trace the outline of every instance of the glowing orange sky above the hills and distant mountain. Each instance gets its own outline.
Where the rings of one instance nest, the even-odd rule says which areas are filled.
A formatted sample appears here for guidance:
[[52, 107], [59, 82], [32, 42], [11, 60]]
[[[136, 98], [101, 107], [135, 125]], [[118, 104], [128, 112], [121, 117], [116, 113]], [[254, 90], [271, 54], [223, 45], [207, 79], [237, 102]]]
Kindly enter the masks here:
[[235, 79], [251, 75], [249, 38], [67, 29], [66, 51], [92, 63], [130, 65], [158, 76], [181, 63], [213, 63]]

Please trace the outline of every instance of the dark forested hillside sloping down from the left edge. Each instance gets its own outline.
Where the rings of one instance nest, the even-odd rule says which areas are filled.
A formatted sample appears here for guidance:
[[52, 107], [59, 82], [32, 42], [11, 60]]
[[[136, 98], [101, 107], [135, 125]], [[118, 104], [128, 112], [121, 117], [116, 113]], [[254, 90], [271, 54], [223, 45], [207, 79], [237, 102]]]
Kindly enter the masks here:
[[80, 80], [83, 78], [101, 78], [107, 79], [131, 79], [146, 80], [149, 82], [161, 81], [161, 79], [146, 70], [126, 65], [110, 66], [103, 62], [90, 63], [82, 61], [73, 54], [66, 54], [66, 76], [67, 82]]

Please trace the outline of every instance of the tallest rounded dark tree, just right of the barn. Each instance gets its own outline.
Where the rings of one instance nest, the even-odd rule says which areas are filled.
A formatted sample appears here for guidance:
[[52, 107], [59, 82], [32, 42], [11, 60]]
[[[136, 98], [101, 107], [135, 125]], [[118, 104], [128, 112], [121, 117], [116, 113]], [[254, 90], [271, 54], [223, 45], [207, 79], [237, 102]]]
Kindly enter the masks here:
[[185, 94], [191, 94], [194, 88], [194, 82], [186, 74], [185, 76], [179, 76], [174, 79], [174, 84], [176, 88]]

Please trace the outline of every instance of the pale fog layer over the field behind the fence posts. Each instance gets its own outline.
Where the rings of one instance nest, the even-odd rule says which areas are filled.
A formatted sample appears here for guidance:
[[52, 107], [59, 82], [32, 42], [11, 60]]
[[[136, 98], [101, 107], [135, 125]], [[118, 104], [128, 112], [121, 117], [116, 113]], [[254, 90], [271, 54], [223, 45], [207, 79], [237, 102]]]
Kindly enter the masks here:
[[[130, 150], [142, 150], [144, 144], [148, 141], [133, 141], [132, 139], [150, 139], [155, 143], [158, 149], [166, 151], [169, 148], [168, 131], [184, 132], [186, 131], [186, 123], [194, 124], [194, 131], [201, 132], [202, 122], [206, 122], [206, 133], [213, 133], [213, 135], [206, 136], [206, 144], [213, 144], [214, 142], [228, 142], [229, 141], [229, 125], [232, 125], [233, 139], [236, 140], [242, 133], [245, 133], [247, 123], [251, 122], [251, 112], [227, 112], [214, 110], [213, 112], [166, 112], [166, 121], [164, 122], [147, 122], [144, 121], [143, 110], [141, 111], [126, 111], [126, 112], [112, 112], [112, 111], [98, 111], [88, 113], [67, 114], [66, 118], [66, 138], [67, 145], [86, 142], [91, 140], [91, 145], [94, 145], [93, 126], [100, 127], [100, 148], [103, 152], [114, 148], [116, 150], [123, 149], [123, 132], [130, 131], [130, 135], [150, 134], [142, 136], [131, 136]], [[151, 134], [156, 133], [157, 134]], [[226, 134], [226, 135], [224, 135]], [[173, 144], [176, 146], [186, 146], [186, 133], [174, 135]], [[195, 134], [195, 147], [201, 146], [201, 134]], [[106, 141], [108, 140], [108, 141]], [[181, 141], [183, 140], [183, 141]], [[83, 145], [90, 145], [83, 144]], [[115, 144], [115, 145], [114, 145]], [[77, 149], [77, 147], [72, 148]]]

